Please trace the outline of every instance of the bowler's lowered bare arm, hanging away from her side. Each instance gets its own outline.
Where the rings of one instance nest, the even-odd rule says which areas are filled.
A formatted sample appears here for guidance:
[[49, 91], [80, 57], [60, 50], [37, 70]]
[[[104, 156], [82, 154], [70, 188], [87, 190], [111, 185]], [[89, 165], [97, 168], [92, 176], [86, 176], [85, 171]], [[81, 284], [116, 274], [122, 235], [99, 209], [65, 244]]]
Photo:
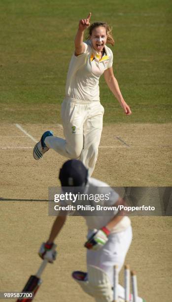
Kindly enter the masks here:
[[121, 107], [123, 108], [124, 112], [127, 115], [132, 114], [130, 107], [127, 105], [127, 103], [124, 101], [124, 98], [122, 96], [122, 93], [119, 89], [119, 85], [117, 82], [117, 79], [115, 78], [113, 74], [112, 67], [108, 68], [104, 72], [104, 78], [107, 83], [107, 86], [111, 90], [111, 92], [114, 94], [114, 96], [117, 98], [118, 102], [120, 103]]

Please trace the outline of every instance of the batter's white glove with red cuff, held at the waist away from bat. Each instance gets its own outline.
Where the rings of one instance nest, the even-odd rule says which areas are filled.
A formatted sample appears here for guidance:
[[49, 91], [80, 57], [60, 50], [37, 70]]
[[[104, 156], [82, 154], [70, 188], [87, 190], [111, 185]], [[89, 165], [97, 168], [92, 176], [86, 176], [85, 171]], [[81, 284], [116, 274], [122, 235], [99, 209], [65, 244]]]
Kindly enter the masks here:
[[109, 234], [110, 231], [102, 227], [87, 240], [84, 246], [89, 250], [98, 251], [106, 244]]

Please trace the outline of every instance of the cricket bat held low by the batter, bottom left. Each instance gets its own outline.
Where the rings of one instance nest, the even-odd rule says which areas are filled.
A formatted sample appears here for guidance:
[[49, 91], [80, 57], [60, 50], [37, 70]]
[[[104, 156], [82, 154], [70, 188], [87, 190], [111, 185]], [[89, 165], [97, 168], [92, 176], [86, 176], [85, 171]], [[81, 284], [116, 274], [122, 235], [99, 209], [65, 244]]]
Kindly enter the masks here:
[[[40, 276], [41, 276], [43, 270], [45, 269], [47, 263], [48, 263], [48, 261], [46, 259], [42, 261], [37, 273], [35, 275], [30, 276], [30, 278], [28, 279], [28, 282], [26, 283], [22, 292], [33, 292], [34, 296], [35, 296], [40, 284], [42, 283]], [[29, 302], [29, 301], [33, 301], [33, 300], [34, 300], [34, 297], [33, 298], [20, 298], [16, 302]]]

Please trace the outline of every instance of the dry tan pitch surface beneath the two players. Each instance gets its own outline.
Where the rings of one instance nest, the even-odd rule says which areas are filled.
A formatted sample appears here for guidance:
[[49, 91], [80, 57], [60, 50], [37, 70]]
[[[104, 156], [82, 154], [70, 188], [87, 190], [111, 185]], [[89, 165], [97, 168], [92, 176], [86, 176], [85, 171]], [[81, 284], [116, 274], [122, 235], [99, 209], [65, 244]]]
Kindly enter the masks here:
[[[54, 124], [21, 126], [35, 140], [47, 129], [63, 136]], [[0, 291], [20, 291], [40, 264], [37, 250], [54, 221], [47, 216], [47, 187], [59, 184], [64, 158], [48, 151], [36, 162], [30, 137], [15, 124], [0, 128]], [[171, 124], [104, 125], [93, 177], [111, 186], [171, 186], [171, 142]], [[126, 263], [138, 272], [139, 295], [147, 302], [170, 302], [172, 219], [135, 217], [132, 225]], [[70, 217], [57, 240], [57, 261], [47, 266], [35, 302], [93, 301], [70, 277], [73, 270], [85, 270], [85, 236], [84, 220]]]

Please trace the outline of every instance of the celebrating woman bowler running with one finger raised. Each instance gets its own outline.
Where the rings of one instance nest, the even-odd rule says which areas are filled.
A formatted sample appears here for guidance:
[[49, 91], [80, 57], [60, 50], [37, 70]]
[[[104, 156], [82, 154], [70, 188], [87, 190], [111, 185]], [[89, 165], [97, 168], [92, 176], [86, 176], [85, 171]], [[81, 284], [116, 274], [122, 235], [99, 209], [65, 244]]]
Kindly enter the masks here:
[[[69, 64], [66, 96], [62, 103], [61, 117], [65, 140], [43, 133], [35, 145], [33, 155], [40, 159], [49, 149], [68, 158], [80, 159], [91, 176], [98, 157], [98, 147], [103, 128], [104, 108], [100, 103], [99, 79], [104, 75], [108, 88], [127, 115], [131, 114], [118, 82], [113, 74], [113, 53], [106, 44], [114, 45], [107, 23], [90, 25], [91, 13], [79, 21], [74, 39], [75, 50]], [[88, 29], [84, 42], [84, 32]]]

